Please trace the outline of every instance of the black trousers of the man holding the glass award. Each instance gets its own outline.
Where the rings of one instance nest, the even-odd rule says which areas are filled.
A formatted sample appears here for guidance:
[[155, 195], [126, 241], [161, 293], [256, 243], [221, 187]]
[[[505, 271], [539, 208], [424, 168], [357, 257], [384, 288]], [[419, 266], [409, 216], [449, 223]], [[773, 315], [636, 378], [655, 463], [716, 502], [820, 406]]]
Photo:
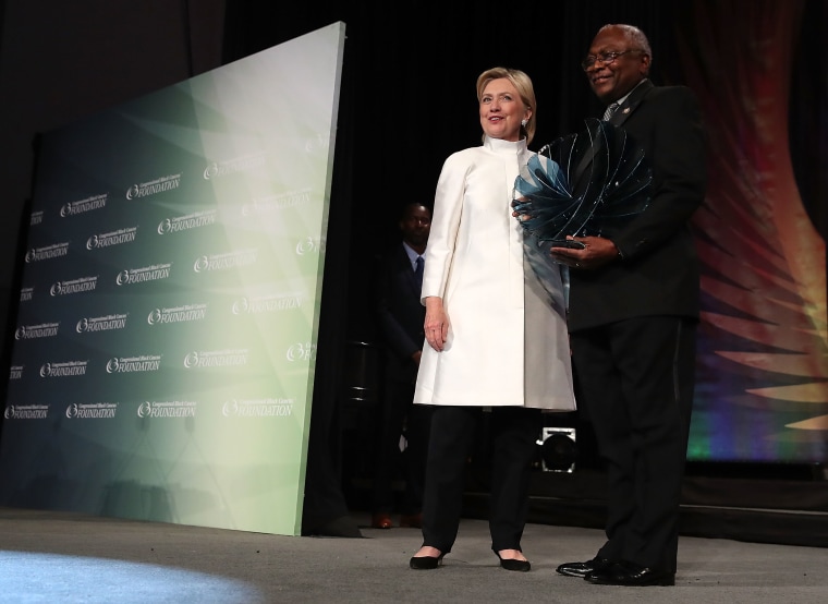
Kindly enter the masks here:
[[675, 570], [696, 323], [633, 318], [571, 335], [576, 398], [607, 461], [598, 555]]

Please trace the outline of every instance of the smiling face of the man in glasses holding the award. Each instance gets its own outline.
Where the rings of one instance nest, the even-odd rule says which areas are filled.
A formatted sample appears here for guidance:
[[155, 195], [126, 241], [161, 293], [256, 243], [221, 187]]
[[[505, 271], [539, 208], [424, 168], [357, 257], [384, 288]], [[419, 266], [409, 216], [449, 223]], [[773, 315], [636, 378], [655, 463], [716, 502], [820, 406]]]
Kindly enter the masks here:
[[[620, 53], [604, 61], [607, 53]], [[609, 105], [632, 90], [647, 76], [649, 56], [633, 48], [623, 31], [610, 27], [600, 32], [589, 47], [587, 57], [595, 62], [586, 68], [586, 77], [593, 92], [605, 105]]]

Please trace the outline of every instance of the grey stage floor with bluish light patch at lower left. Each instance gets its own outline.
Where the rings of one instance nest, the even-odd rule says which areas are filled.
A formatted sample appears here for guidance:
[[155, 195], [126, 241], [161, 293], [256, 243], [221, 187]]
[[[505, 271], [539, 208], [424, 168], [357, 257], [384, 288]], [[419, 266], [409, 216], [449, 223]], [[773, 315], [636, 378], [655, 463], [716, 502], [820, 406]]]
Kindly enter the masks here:
[[246, 533], [0, 508], [2, 603], [503, 603], [669, 602], [821, 604], [828, 549], [682, 537], [671, 588], [592, 585], [555, 568], [590, 558], [599, 530], [532, 523], [531, 572], [498, 567], [485, 520], [461, 523], [441, 568], [409, 569], [415, 529], [367, 528], [365, 539]]

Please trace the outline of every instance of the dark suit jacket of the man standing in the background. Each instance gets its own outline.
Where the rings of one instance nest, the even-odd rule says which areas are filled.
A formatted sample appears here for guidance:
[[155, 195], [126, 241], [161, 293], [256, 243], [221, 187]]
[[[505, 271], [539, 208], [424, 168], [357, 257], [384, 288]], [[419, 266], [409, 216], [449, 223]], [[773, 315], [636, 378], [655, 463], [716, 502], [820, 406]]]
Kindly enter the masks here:
[[417, 365], [411, 357], [423, 349], [426, 309], [419, 302], [421, 288], [402, 243], [380, 259], [377, 277], [377, 315], [388, 352], [387, 377], [413, 383]]

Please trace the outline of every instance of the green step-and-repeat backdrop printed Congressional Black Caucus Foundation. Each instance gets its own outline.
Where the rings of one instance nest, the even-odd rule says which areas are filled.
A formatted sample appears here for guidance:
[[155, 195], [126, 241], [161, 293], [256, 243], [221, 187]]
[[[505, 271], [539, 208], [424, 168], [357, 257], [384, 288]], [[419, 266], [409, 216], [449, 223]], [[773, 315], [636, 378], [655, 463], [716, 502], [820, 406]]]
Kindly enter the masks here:
[[300, 534], [344, 29], [42, 135], [0, 505]]

